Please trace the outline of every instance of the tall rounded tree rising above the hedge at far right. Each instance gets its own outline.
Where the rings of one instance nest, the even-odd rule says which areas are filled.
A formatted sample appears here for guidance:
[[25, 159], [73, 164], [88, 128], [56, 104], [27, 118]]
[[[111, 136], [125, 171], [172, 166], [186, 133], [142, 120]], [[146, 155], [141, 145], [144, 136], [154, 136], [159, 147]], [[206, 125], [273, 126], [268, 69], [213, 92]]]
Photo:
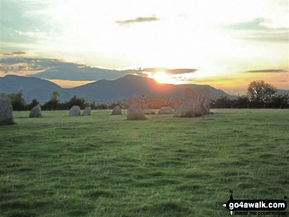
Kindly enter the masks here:
[[265, 83], [262, 80], [253, 81], [248, 87], [248, 98], [250, 102], [253, 102], [256, 107], [271, 103], [274, 100], [274, 96], [277, 90], [271, 84]]

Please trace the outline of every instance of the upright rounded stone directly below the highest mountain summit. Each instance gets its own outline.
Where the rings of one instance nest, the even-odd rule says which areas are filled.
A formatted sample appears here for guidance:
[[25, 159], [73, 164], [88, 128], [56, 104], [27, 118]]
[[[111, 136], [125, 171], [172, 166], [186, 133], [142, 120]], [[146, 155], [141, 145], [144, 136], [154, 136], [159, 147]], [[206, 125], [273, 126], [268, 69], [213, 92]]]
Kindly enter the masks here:
[[130, 97], [127, 101], [128, 105], [128, 120], [146, 120], [142, 103], [136, 97]]

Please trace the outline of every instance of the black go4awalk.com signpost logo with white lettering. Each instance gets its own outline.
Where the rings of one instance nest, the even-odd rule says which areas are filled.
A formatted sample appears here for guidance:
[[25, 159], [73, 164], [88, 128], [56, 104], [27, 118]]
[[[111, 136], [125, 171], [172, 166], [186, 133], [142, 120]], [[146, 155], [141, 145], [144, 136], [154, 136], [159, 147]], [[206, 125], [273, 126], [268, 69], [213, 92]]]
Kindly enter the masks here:
[[[287, 196], [284, 197], [287, 199]], [[231, 215], [286, 215], [287, 202], [285, 200], [235, 200], [230, 190], [229, 200], [223, 204]], [[277, 213], [278, 212], [278, 213]]]

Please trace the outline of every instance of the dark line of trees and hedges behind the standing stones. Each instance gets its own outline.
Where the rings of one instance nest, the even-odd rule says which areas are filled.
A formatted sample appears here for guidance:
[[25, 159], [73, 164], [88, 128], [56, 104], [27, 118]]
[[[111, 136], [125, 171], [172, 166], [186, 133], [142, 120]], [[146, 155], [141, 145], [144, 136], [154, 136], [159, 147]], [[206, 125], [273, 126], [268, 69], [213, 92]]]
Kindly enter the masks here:
[[[247, 90], [246, 95], [237, 96], [236, 98], [221, 95], [217, 99], [211, 99], [210, 108], [289, 108], [289, 93], [277, 94], [276, 87], [262, 80], [251, 82]], [[40, 104], [36, 98], [31, 103], [27, 103], [22, 90], [18, 93], [8, 94], [8, 96], [13, 111], [31, 110], [34, 106]], [[169, 98], [145, 95], [140, 95], [138, 98], [148, 109], [160, 109], [166, 106], [173, 108], [174, 106], [174, 101]], [[50, 94], [50, 99], [44, 104], [40, 104], [42, 110], [69, 110], [73, 105], [78, 105], [82, 110], [87, 106], [91, 106], [92, 109], [113, 109], [117, 105], [122, 109], [127, 109], [125, 99], [115, 102], [93, 102], [87, 98], [74, 95], [68, 101], [61, 101], [59, 91], [53, 91]]]

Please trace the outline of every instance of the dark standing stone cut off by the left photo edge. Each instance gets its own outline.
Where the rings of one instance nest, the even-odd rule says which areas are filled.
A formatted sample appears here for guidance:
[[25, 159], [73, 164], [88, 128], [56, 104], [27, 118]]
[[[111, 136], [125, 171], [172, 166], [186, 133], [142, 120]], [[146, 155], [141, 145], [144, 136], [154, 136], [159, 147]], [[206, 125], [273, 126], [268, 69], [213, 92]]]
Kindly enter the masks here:
[[6, 93], [0, 93], [0, 125], [14, 124], [12, 105]]

